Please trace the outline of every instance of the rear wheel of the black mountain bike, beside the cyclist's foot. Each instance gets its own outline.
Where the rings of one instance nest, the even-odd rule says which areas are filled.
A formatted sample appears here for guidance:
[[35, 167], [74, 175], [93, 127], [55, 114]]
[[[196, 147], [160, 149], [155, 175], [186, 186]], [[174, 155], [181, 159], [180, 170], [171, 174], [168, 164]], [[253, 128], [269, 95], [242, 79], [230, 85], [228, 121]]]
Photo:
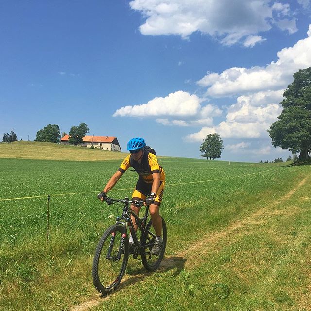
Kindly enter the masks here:
[[160, 265], [166, 247], [166, 239], [167, 239], [167, 230], [166, 223], [162, 218], [162, 238], [163, 238], [163, 246], [159, 255], [151, 255], [150, 251], [155, 244], [155, 229], [152, 226], [151, 220], [148, 222], [146, 229], [143, 231], [141, 236], [141, 247], [144, 248], [141, 252], [141, 261], [144, 267], [148, 271], [154, 271]]

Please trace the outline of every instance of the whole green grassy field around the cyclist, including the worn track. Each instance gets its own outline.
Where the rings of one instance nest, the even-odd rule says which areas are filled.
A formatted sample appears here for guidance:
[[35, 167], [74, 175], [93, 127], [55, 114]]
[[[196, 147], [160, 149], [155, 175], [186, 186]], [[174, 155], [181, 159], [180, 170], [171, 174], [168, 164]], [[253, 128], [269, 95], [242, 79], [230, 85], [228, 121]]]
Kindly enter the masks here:
[[[35, 159], [25, 143], [24, 158], [9, 158], [1, 145], [0, 310], [310, 310], [310, 166], [160, 158], [166, 258], [155, 273], [129, 260], [107, 299], [93, 287], [91, 265], [118, 208], [96, 194], [124, 154], [96, 161], [69, 147], [73, 155], [55, 160], [56, 146], [37, 143], [38, 158], [49, 156]], [[136, 180], [126, 172], [109, 195], [130, 196]]]

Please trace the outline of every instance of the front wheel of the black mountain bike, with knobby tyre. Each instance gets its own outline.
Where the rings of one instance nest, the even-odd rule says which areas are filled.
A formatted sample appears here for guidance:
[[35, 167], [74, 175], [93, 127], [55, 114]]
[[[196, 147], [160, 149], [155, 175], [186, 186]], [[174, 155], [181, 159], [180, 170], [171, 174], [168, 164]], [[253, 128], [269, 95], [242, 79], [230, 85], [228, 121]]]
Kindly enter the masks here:
[[[128, 261], [129, 242], [126, 237], [121, 245], [124, 227], [110, 226], [99, 240], [93, 259], [92, 276], [96, 289], [108, 295], [113, 292], [124, 276]], [[121, 255], [119, 250], [121, 247]]]

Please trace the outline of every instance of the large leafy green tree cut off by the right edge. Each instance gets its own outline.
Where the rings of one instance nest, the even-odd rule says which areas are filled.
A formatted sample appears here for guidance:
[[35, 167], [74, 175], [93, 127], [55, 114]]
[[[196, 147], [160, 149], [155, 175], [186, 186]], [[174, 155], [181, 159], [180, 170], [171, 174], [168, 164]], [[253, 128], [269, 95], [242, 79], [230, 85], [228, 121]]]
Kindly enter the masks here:
[[274, 147], [300, 152], [307, 160], [311, 151], [311, 67], [294, 73], [294, 82], [280, 103], [284, 109], [268, 130]]

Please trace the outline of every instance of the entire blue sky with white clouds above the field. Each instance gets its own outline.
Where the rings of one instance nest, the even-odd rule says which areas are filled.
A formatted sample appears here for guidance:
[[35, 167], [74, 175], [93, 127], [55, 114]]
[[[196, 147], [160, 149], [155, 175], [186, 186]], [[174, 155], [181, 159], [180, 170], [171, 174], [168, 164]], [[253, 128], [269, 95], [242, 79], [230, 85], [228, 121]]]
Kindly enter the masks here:
[[309, 24], [311, 0], [2, 0], [0, 135], [85, 122], [200, 158], [216, 132], [222, 160], [286, 159], [266, 130], [311, 66]]

